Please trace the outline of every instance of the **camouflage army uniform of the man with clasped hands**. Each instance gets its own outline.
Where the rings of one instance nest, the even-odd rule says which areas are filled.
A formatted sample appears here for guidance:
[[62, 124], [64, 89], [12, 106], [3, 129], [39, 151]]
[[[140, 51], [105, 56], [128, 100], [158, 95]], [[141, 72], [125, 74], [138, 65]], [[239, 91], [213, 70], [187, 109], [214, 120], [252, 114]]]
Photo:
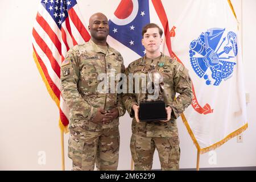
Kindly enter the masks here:
[[99, 170], [117, 169], [119, 119], [109, 124], [92, 122], [99, 107], [106, 111], [116, 107], [119, 117], [125, 114], [120, 94], [97, 90], [102, 81], [98, 75], [110, 69], [115, 74], [125, 71], [120, 53], [105, 48], [90, 40], [70, 49], [61, 64], [61, 93], [70, 109], [68, 156], [73, 170], [93, 170], [95, 162]]

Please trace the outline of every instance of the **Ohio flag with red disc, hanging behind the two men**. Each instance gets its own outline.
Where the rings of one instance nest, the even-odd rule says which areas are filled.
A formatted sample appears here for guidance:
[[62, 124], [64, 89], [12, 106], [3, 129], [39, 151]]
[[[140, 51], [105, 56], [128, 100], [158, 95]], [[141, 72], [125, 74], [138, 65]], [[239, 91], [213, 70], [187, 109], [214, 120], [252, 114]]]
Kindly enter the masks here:
[[[108, 43], [122, 52], [127, 66], [144, 56], [142, 28], [148, 23], [156, 23], [164, 34], [162, 52], [171, 55], [171, 40], [168, 20], [162, 2], [159, 0], [122, 0], [113, 18], [109, 20]], [[129, 61], [128, 61], [129, 60]]]

